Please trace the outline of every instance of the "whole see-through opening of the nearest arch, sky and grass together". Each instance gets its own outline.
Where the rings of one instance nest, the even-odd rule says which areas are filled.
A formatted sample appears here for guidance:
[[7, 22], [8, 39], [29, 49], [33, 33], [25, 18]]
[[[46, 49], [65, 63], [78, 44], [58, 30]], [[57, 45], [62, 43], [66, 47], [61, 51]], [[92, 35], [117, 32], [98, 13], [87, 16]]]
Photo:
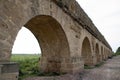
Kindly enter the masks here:
[[27, 28], [22, 27], [17, 34], [10, 59], [11, 62], [19, 64], [20, 80], [27, 76], [38, 74], [40, 54], [41, 49], [34, 34]]

